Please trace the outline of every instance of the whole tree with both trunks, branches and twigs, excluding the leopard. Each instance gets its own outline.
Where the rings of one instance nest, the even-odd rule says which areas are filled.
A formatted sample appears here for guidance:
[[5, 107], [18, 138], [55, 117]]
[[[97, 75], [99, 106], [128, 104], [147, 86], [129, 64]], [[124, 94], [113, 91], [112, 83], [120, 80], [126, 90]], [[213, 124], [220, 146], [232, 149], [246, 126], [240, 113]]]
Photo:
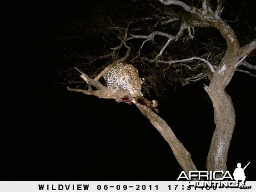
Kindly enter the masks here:
[[[180, 0], [135, 1], [134, 4], [137, 4], [136, 9], [145, 9], [145, 7], [141, 7], [147, 6], [149, 8], [148, 15], [145, 16], [141, 12], [137, 15], [130, 15], [129, 21], [129, 15], [123, 18], [119, 17], [117, 20], [108, 17], [105, 21], [104, 16], [97, 19], [97, 24], [101, 23], [98, 26], [101, 29], [98, 30], [103, 29], [102, 31], [108, 34], [108, 38], [104, 41], [114, 42], [113, 44], [119, 42], [119, 44], [111, 48], [111, 51], [105, 49], [102, 51], [102, 55], [97, 57], [84, 56], [74, 52], [74, 55], [79, 55], [87, 61], [87, 65], [79, 64], [76, 69], [81, 73], [81, 78], [86, 81], [88, 88], [84, 90], [68, 87], [68, 90], [99, 98], [116, 99], [117, 102], [134, 103], [169, 143], [178, 163], [188, 173], [197, 168], [189, 151], [180, 143], [169, 125], [152, 111], [151, 108], [155, 109], [157, 102], [141, 97], [132, 97], [127, 90], [123, 89], [118, 89], [114, 94], [110, 88], [100, 82], [100, 78], [118, 61], [132, 61], [134, 64], [140, 62], [143, 64], [140, 66], [143, 68], [143, 72], [148, 73], [147, 69], [150, 68], [152, 72], [159, 71], [161, 74], [169, 76], [166, 77], [168, 80], [170, 76], [177, 76], [168, 71], [169, 67], [175, 65], [176, 68], [184, 71], [176, 78], [181, 84], [208, 78], [209, 85], [205, 85], [204, 89], [212, 101], [216, 126], [207, 157], [207, 170], [227, 171], [227, 153], [235, 127], [236, 114], [232, 99], [226, 93], [225, 88], [236, 71], [255, 76], [249, 70], [255, 70], [256, 67], [245, 59], [256, 48], [256, 40], [250, 40], [240, 46], [236, 32], [221, 18], [221, 13], [225, 10], [222, 0], [217, 0], [214, 4], [211, 4], [209, 0], [192, 1], [190, 4]], [[125, 27], [124, 23], [126, 23]], [[207, 52], [209, 47], [204, 44], [204, 39], [201, 39], [203, 43], [194, 41], [196, 30], [201, 28], [214, 31], [212, 35], [215, 35], [218, 41], [223, 38], [222, 42], [225, 42], [226, 45], [220, 43], [221, 48], [218, 49], [216, 41], [211, 39], [207, 42], [211, 45], [211, 51]], [[92, 29], [93, 33], [97, 32], [95, 27]], [[217, 31], [222, 37], [216, 33]], [[110, 33], [115, 34], [117, 38], [109, 35]], [[187, 35], [184, 35], [186, 33]], [[193, 43], [189, 44], [189, 42]], [[186, 58], [181, 58], [179, 54], [174, 54], [175, 46], [179, 47], [178, 49], [184, 49], [186, 46], [191, 51], [183, 51], [183, 56]], [[192, 49], [195, 47], [203, 47], [204, 51], [194, 52]], [[219, 52], [222, 49], [225, 51]], [[201, 56], [198, 56], [200, 54]], [[96, 62], [101, 59], [112, 61], [112, 64], [89, 70], [90, 67], [96, 66]], [[95, 76], [95, 78], [92, 79], [83, 73], [84, 70], [88, 71], [89, 76]], [[99, 70], [101, 70], [100, 73]], [[96, 73], [97, 75], [95, 75]], [[146, 83], [144, 88], [147, 93], [155, 87], [154, 84], [157, 84], [157, 80], [153, 81], [153, 79], [158, 79], [158, 81], [160, 79], [156, 78], [159, 75], [148, 74], [147, 82], [149, 83]], [[189, 77], [188, 74], [190, 74]]]

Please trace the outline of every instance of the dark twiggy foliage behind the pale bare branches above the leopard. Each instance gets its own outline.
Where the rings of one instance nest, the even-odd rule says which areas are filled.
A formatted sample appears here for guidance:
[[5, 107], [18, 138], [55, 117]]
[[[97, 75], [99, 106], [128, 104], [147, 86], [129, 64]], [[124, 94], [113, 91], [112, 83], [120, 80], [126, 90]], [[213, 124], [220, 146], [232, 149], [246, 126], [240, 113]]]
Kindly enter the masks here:
[[[201, 6], [200, 1], [186, 1], [188, 5]], [[214, 9], [215, 1], [212, 1]], [[253, 7], [255, 1], [243, 0], [234, 3], [233, 0], [224, 2], [224, 11], [221, 17], [233, 27], [239, 42], [247, 44], [255, 33], [255, 14]], [[242, 9], [240, 9], [242, 7]], [[161, 24], [166, 18], [177, 17], [179, 20], [169, 24]], [[60, 66], [60, 77], [64, 83], [73, 87], [84, 87], [81, 79], [73, 70], [79, 67], [90, 77], [95, 77], [108, 64], [123, 57], [127, 51], [125, 47], [112, 54], [114, 47], [119, 46], [129, 24], [128, 35], [149, 35], [152, 31], [177, 34], [182, 21], [189, 22], [192, 15], [183, 11], [178, 6], [164, 6], [151, 0], [108, 0], [94, 7], [87, 18], [81, 18], [73, 22], [64, 35], [57, 38], [66, 47], [63, 53], [64, 63], [69, 63], [70, 68]], [[148, 19], [150, 18], [150, 19]], [[162, 19], [165, 18], [165, 19]], [[140, 57], [136, 57], [144, 39], [134, 39], [127, 42], [131, 52], [127, 61], [132, 61], [139, 70], [140, 76], [145, 78], [143, 93], [148, 97], [165, 96], [170, 88], [188, 84], [187, 78], [203, 73], [205, 78], [200, 82], [209, 83], [209, 68], [202, 61], [193, 60], [177, 64], [150, 63], [143, 58], [152, 59], [166, 43], [166, 38], [156, 36], [154, 41], [147, 41], [140, 51]], [[86, 47], [84, 45], [90, 45]], [[161, 55], [162, 60], [179, 60], [192, 56], [198, 56], [218, 66], [226, 50], [226, 42], [216, 29], [210, 27], [195, 28], [194, 38], [189, 38], [187, 30], [177, 41], [173, 41]], [[247, 61], [255, 63], [255, 51]], [[70, 65], [71, 63], [71, 65]], [[189, 68], [189, 67], [191, 68]], [[63, 82], [63, 80], [60, 80]], [[71, 85], [70, 85], [71, 84]]]

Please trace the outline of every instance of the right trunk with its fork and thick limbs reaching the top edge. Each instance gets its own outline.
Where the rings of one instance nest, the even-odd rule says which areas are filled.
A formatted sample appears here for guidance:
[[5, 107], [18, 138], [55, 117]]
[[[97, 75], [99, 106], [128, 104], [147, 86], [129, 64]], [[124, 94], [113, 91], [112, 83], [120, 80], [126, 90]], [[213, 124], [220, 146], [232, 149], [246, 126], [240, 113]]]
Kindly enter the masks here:
[[[218, 6], [215, 12], [212, 11], [210, 0], [202, 0], [202, 8], [188, 6], [180, 0], [159, 0], [165, 5], [177, 5], [193, 15], [200, 16], [195, 22], [196, 26], [204, 26], [204, 23], [219, 30], [227, 43], [227, 52], [225, 53], [218, 69], [214, 70], [211, 83], [205, 86], [205, 90], [210, 96], [214, 107], [215, 132], [212, 137], [211, 146], [207, 156], [207, 170], [227, 170], [227, 152], [230, 146], [232, 133], [235, 127], [235, 111], [230, 96], [225, 92], [225, 87], [231, 81], [236, 68], [243, 63], [246, 56], [256, 48], [256, 41], [253, 40], [244, 47], [239, 46], [239, 41], [234, 30], [220, 18], [221, 2], [218, 0]], [[158, 61], [159, 62], [159, 61]], [[167, 62], [171, 63], [171, 61]]]

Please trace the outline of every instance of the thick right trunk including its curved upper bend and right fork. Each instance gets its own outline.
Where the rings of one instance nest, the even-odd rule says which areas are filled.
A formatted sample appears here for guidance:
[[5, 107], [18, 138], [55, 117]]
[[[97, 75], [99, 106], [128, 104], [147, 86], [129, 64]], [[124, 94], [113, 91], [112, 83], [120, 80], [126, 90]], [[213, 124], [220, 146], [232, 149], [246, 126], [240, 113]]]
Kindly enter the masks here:
[[[209, 87], [205, 87], [214, 108], [216, 125], [207, 156], [208, 171], [227, 171], [227, 153], [236, 124], [236, 113], [230, 96], [225, 88], [231, 81], [238, 64], [255, 49], [255, 41], [240, 48], [233, 29], [223, 20], [212, 22], [227, 42], [227, 52], [218, 69], [213, 74]], [[242, 58], [242, 59], [241, 59]], [[241, 60], [240, 60], [241, 59]], [[241, 62], [242, 63], [242, 62]]]

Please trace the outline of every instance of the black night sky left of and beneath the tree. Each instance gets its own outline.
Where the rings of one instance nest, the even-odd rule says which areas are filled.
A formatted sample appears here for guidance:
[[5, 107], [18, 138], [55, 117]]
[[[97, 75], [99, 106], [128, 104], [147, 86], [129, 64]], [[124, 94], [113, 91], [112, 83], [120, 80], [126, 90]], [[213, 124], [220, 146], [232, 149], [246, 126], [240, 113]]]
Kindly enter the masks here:
[[[176, 180], [182, 171], [135, 105], [55, 84], [63, 47], [54, 39], [73, 21], [90, 20], [102, 2], [2, 5], [0, 180]], [[158, 106], [198, 170], [206, 170], [215, 128], [203, 86], [172, 90]], [[256, 78], [237, 72], [226, 90], [236, 109], [227, 168], [250, 162], [245, 175], [256, 180]]]

